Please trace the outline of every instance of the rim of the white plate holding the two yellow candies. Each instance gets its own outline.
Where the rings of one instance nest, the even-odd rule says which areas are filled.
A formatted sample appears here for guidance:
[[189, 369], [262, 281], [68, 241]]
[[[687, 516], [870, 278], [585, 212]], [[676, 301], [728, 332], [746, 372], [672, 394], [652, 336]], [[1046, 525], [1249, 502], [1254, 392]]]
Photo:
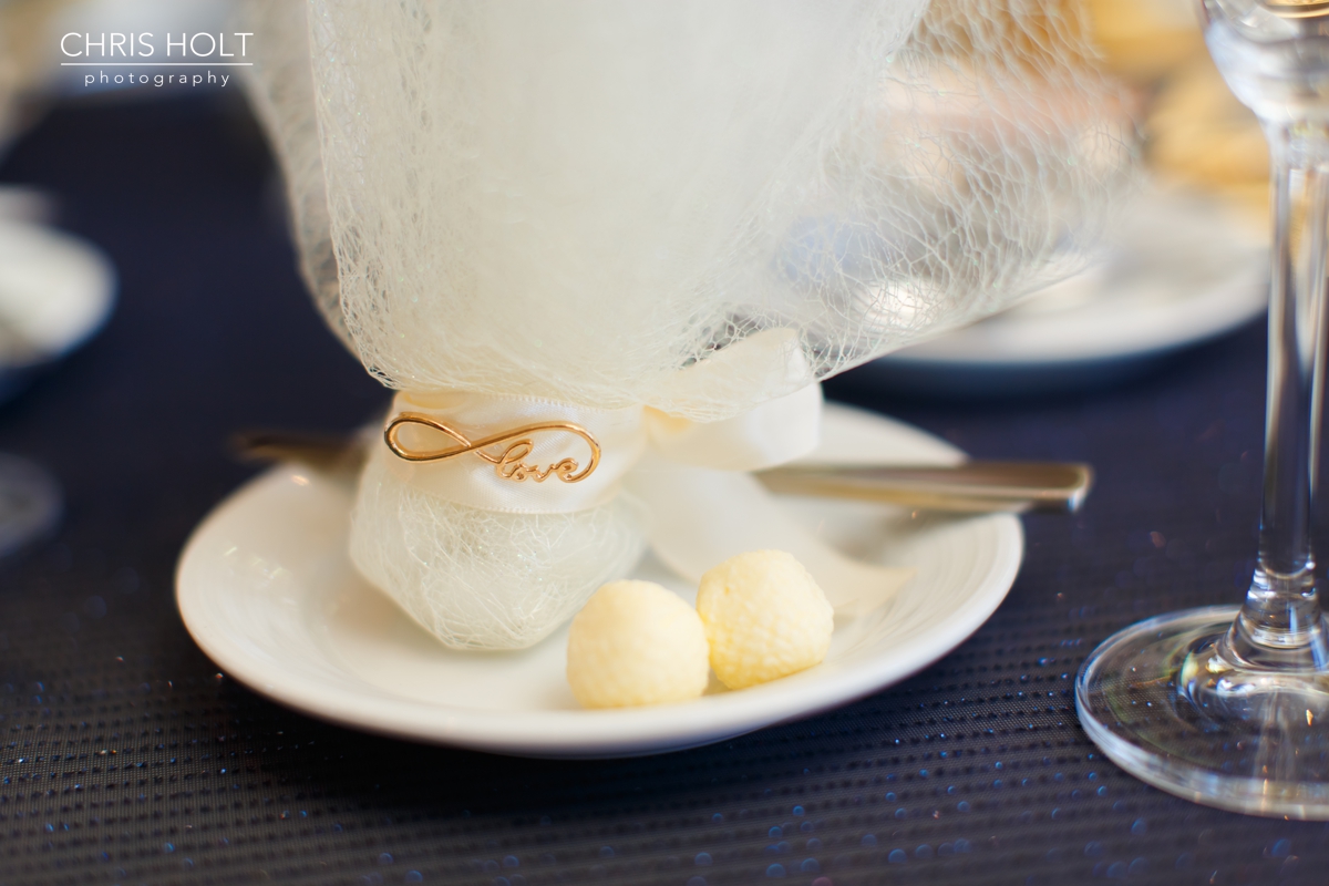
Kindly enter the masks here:
[[[855, 410], [857, 412], [857, 410]], [[870, 414], [870, 413], [869, 413]], [[888, 421], [913, 434], [929, 437], [938, 452], [949, 444], [917, 428]], [[722, 696], [706, 696], [687, 705], [712, 707], [706, 727], [699, 729], [694, 719], [659, 716], [670, 707], [634, 708], [622, 711], [528, 711], [520, 716], [548, 731], [534, 729], [514, 735], [513, 713], [505, 711], [476, 711], [427, 705], [419, 700], [384, 695], [381, 689], [364, 684], [355, 697], [354, 709], [347, 709], [344, 687], [331, 687], [300, 673], [276, 673], [263, 668], [247, 654], [243, 644], [225, 632], [209, 630], [205, 608], [186, 588], [197, 586], [190, 578], [202, 555], [201, 539], [227, 519], [233, 511], [243, 509], [251, 497], [259, 497], [268, 484], [284, 484], [295, 473], [291, 466], [274, 468], [246, 482], [223, 499], [191, 533], [181, 555], [175, 574], [175, 598], [186, 630], [199, 648], [223, 672], [242, 684], [280, 703], [323, 720], [388, 735], [400, 739], [441, 743], [476, 751], [541, 757], [613, 757], [637, 756], [678, 751], [722, 741], [777, 723], [799, 720], [860, 699], [904, 680], [929, 667], [969, 638], [1006, 598], [1023, 559], [1023, 529], [1017, 517], [993, 514], [985, 519], [997, 534], [995, 562], [966, 598], [957, 618], [937, 626], [936, 632], [922, 635], [901, 648], [905, 655], [892, 656], [856, 665], [836, 676], [833, 691], [824, 680], [807, 683], [767, 684]], [[940, 636], [938, 636], [940, 635]], [[912, 647], [922, 647], [910, 652]], [[902, 664], [901, 664], [902, 663]]]

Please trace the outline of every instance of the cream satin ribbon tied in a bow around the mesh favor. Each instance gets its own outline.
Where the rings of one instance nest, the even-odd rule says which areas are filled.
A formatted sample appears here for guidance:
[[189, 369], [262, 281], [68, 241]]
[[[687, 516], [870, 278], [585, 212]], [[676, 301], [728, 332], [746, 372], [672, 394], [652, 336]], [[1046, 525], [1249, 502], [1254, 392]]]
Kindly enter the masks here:
[[[775, 331], [785, 332], [785, 331]], [[785, 361], [785, 377], [807, 377], [799, 349], [787, 336], [754, 336], [728, 351], [724, 365], [703, 361], [680, 375], [704, 391], [711, 372], [732, 376], [736, 364]], [[788, 365], [791, 361], [799, 365]], [[710, 364], [710, 365], [708, 365]], [[771, 377], [769, 375], [767, 376]], [[526, 397], [497, 397], [461, 392], [423, 396], [399, 393], [393, 414], [428, 416], [470, 441], [522, 425], [552, 421], [585, 428], [601, 449], [599, 464], [575, 484], [550, 476], [542, 482], [504, 478], [496, 465], [476, 453], [443, 461], [411, 462], [387, 445], [373, 448], [405, 482], [439, 498], [484, 510], [573, 513], [611, 499], [625, 486], [650, 513], [649, 538], [655, 553], [690, 580], [744, 551], [784, 550], [801, 562], [840, 615], [861, 615], [893, 595], [913, 574], [853, 561], [799, 525], [751, 470], [769, 468], [811, 453], [820, 440], [821, 388], [808, 384], [777, 396], [734, 418], [695, 422], [645, 406], [587, 409]], [[441, 432], [412, 448], [455, 445]], [[562, 432], [532, 436], [524, 461], [548, 466], [561, 458], [587, 464], [586, 442]], [[494, 446], [493, 454], [501, 450]]]

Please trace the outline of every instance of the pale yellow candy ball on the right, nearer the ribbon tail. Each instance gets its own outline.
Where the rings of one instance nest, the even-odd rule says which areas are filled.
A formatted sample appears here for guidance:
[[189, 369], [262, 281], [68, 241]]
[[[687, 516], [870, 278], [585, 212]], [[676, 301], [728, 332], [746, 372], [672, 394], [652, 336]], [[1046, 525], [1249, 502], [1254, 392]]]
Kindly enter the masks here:
[[831, 648], [835, 611], [784, 551], [748, 551], [702, 576], [696, 611], [720, 683], [742, 689], [820, 664]]

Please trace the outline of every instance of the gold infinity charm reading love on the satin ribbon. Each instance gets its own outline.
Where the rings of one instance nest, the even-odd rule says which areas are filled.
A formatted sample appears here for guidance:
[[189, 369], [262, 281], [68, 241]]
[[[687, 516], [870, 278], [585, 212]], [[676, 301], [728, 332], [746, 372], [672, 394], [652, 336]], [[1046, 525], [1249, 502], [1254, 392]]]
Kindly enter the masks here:
[[[433, 428], [456, 440], [457, 445], [448, 449], [408, 449], [397, 438], [403, 425]], [[532, 437], [546, 432], [569, 433], [585, 440], [586, 445], [590, 446], [590, 462], [586, 468], [581, 468], [575, 458], [563, 458], [545, 470], [524, 464], [522, 458], [529, 456], [530, 450], [536, 448]], [[494, 474], [500, 480], [512, 480], [514, 482], [534, 480], [537, 484], [542, 484], [553, 476], [565, 484], [575, 484], [590, 477], [595, 466], [599, 465], [599, 442], [595, 441], [595, 437], [589, 430], [570, 421], [546, 421], [536, 425], [525, 425], [472, 442], [459, 430], [449, 428], [431, 416], [419, 412], [403, 412], [388, 421], [388, 426], [383, 429], [383, 441], [388, 444], [392, 454], [405, 461], [444, 461], [473, 452], [494, 466]], [[485, 452], [489, 446], [500, 444], [508, 444], [502, 454], [494, 456]]]

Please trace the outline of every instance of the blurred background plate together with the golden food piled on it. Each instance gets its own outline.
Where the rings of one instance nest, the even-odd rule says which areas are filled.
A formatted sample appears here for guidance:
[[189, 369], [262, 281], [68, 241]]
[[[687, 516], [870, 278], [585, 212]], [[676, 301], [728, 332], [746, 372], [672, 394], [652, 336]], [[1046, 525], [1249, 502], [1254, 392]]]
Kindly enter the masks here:
[[1256, 319], [1268, 299], [1268, 170], [1255, 116], [1204, 49], [1187, 0], [1084, 0], [1123, 84], [1144, 182], [1092, 264], [1010, 311], [868, 364], [913, 395], [1107, 385]]

